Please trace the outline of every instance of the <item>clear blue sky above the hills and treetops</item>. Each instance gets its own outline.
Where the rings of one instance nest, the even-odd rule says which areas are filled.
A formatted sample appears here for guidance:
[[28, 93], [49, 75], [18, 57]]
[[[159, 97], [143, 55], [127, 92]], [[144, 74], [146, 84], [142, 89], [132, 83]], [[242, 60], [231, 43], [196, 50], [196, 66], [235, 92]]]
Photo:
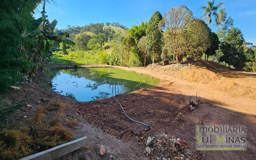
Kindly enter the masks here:
[[[206, 5], [207, 0], [55, 0], [46, 5], [46, 12], [50, 21], [57, 19], [59, 29], [71, 26], [84, 26], [97, 22], [119, 22], [130, 28], [141, 21], [149, 21], [155, 11], [162, 15], [171, 7], [185, 4], [196, 17], [203, 14], [199, 7]], [[234, 26], [239, 27], [248, 42], [256, 45], [256, 0], [216, 0], [224, 2], [227, 16], [234, 19]], [[40, 17], [42, 7], [39, 6], [36, 17]], [[216, 27], [210, 25], [213, 31]]]

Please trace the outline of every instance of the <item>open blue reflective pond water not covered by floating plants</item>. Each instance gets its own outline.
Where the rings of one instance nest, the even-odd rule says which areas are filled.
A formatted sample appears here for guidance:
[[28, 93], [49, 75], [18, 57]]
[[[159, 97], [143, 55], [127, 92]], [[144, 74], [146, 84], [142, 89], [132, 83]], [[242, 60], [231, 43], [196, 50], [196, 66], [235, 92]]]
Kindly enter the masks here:
[[[112, 96], [112, 84], [116, 84], [116, 94], [129, 89], [111, 78], [102, 79], [102, 75], [111, 74], [109, 68], [62, 69], [53, 72], [52, 88], [62, 95], [73, 94], [77, 101], [91, 101]], [[117, 83], [119, 85], [117, 85]], [[113, 91], [115, 95], [115, 89]]]

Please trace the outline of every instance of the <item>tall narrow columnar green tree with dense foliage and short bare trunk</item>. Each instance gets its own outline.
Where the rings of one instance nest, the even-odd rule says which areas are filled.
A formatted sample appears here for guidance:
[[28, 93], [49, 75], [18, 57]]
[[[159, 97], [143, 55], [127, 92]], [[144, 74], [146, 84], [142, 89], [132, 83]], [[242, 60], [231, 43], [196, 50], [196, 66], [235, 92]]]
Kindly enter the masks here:
[[162, 49], [162, 35], [161, 27], [163, 24], [163, 17], [159, 11], [156, 11], [150, 18], [146, 30], [146, 48], [152, 59], [152, 67], [154, 68], [155, 58], [159, 57]]

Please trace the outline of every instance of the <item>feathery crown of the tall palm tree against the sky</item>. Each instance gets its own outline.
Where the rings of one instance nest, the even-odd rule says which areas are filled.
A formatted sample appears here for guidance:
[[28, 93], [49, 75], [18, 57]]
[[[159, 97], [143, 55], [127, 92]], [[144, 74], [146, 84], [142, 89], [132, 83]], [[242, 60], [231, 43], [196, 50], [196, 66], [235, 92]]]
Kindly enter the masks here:
[[199, 8], [199, 10], [204, 9], [204, 14], [201, 16], [201, 18], [205, 16], [204, 21], [208, 24], [208, 27], [210, 26], [210, 23], [212, 22], [212, 18], [211, 18], [212, 16], [215, 17], [215, 22], [220, 19], [221, 14], [219, 12], [217, 12], [217, 10], [220, 7], [224, 6], [224, 3], [218, 3], [217, 5], [214, 6], [214, 2], [215, 2], [215, 0], [208, 1], [207, 6], [201, 6]]

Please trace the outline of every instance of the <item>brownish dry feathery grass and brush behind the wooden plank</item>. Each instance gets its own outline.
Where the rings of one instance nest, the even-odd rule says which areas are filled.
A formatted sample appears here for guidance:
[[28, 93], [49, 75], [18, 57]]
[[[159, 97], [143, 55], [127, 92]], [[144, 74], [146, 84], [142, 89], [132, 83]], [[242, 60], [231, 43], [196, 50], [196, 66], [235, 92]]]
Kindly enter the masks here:
[[[38, 107], [28, 129], [1, 129], [0, 159], [19, 159], [73, 140], [71, 130], [61, 123], [66, 106], [60, 99], [50, 101], [47, 106]], [[47, 111], [57, 114], [47, 117]], [[44, 120], [49, 122], [43, 123]], [[75, 123], [76, 120], [70, 121], [71, 125]]]

